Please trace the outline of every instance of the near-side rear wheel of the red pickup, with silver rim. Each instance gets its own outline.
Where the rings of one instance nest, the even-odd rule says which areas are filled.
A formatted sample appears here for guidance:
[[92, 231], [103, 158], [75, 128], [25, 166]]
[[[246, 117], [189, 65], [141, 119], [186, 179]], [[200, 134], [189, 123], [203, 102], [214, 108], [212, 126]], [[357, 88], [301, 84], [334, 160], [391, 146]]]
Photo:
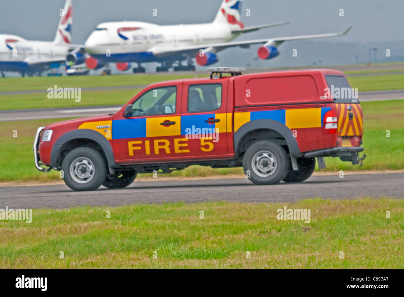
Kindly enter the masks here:
[[282, 146], [273, 141], [261, 140], [252, 143], [246, 150], [243, 168], [248, 179], [256, 185], [273, 185], [285, 178], [289, 162]]

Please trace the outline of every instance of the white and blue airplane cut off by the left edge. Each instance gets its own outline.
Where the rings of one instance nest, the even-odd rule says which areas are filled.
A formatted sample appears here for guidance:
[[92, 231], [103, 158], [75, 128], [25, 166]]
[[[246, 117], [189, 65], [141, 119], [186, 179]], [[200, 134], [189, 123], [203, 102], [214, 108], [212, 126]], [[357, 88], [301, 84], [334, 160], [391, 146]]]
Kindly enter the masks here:
[[[5, 71], [19, 72], [21, 76], [40, 75], [57, 64], [64, 64], [69, 51], [75, 46], [72, 42], [73, 21], [72, 0], [66, 0], [61, 18], [53, 41], [26, 40], [12, 34], [0, 34], [0, 72], [4, 77]], [[84, 50], [77, 48], [77, 57], [82, 57]]]

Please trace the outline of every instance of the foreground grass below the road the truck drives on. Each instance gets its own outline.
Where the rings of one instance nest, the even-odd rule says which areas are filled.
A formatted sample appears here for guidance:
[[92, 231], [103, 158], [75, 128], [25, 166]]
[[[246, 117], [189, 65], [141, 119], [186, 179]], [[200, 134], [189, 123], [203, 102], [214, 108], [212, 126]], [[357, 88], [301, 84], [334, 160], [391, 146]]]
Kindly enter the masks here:
[[[284, 206], [310, 209], [310, 223], [278, 220]], [[32, 223], [0, 221], [0, 269], [404, 268], [402, 199], [179, 202], [32, 214]]]

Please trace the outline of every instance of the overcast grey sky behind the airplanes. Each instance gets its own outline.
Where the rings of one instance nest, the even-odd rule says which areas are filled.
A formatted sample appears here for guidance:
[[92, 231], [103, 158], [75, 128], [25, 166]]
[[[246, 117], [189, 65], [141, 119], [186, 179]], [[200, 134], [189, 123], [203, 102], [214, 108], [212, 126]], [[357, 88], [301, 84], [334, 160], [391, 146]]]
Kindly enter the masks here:
[[[146, 21], [157, 24], [211, 22], [222, 0], [73, 0], [73, 43], [83, 44], [105, 21]], [[59, 9], [65, 0], [0, 0], [0, 33], [28, 40], [53, 40]], [[158, 16], [152, 11], [158, 9]], [[246, 8], [251, 16], [246, 17]], [[339, 16], [343, 8], [344, 16]], [[244, 0], [246, 26], [279, 21], [290, 25], [261, 29], [238, 40], [340, 32], [353, 29], [343, 42], [404, 39], [403, 0]], [[337, 41], [337, 40], [335, 40]]]

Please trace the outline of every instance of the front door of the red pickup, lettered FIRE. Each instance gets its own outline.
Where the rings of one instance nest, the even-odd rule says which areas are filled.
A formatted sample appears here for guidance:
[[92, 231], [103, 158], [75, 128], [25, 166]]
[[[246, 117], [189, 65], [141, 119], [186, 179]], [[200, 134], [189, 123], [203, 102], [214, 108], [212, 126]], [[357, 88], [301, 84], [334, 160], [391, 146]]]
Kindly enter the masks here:
[[[182, 84], [151, 88], [131, 104], [132, 116], [117, 113], [112, 145], [118, 163], [181, 160]], [[164, 124], [166, 123], [166, 124]]]

